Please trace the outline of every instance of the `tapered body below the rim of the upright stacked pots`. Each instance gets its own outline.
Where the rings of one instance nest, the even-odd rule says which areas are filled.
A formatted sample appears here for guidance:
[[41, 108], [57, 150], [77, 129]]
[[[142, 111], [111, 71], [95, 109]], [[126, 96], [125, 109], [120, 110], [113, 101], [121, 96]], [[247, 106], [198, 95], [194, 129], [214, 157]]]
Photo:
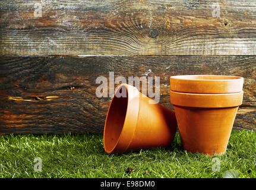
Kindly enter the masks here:
[[238, 106], [199, 108], [174, 105], [174, 109], [185, 150], [210, 156], [226, 152]]

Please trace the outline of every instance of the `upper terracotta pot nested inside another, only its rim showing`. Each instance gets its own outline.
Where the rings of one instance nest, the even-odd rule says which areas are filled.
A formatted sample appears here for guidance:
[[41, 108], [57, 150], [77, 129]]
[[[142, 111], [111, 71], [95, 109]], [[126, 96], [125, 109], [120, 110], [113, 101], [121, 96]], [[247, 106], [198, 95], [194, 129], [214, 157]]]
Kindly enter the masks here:
[[242, 91], [244, 78], [222, 75], [179, 75], [170, 77], [170, 90], [182, 93], [222, 94]]

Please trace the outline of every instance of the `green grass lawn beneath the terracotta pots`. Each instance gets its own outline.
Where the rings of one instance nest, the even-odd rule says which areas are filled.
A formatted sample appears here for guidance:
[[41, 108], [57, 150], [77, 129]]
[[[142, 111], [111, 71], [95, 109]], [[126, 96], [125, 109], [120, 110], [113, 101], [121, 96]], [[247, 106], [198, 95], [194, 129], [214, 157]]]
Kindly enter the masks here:
[[[34, 172], [36, 157], [42, 172]], [[226, 154], [214, 157], [188, 153], [178, 133], [170, 147], [122, 155], [106, 154], [100, 134], [0, 136], [1, 178], [222, 178], [230, 169], [256, 178], [256, 132], [234, 129]]]

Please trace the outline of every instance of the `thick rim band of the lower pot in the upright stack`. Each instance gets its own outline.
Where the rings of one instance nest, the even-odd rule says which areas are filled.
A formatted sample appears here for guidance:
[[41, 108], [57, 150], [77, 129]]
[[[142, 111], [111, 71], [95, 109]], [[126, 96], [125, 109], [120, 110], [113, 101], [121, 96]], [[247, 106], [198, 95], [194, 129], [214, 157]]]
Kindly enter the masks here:
[[226, 94], [181, 93], [170, 90], [170, 103], [184, 107], [236, 107], [242, 105], [244, 91]]

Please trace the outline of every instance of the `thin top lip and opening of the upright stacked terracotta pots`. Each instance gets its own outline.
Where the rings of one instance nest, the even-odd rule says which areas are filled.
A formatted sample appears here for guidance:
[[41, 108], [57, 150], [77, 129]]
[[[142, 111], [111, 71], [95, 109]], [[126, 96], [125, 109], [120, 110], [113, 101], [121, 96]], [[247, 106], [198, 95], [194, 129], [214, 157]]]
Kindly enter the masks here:
[[[196, 78], [203, 77], [203, 78]], [[206, 77], [206, 78], [204, 78]], [[216, 77], [216, 79], [210, 79], [207, 77]], [[187, 80], [187, 81], [235, 81], [235, 80], [244, 80], [243, 77], [232, 76], [232, 75], [176, 75], [170, 78], [176, 80]], [[222, 79], [219, 79], [222, 78]]]

